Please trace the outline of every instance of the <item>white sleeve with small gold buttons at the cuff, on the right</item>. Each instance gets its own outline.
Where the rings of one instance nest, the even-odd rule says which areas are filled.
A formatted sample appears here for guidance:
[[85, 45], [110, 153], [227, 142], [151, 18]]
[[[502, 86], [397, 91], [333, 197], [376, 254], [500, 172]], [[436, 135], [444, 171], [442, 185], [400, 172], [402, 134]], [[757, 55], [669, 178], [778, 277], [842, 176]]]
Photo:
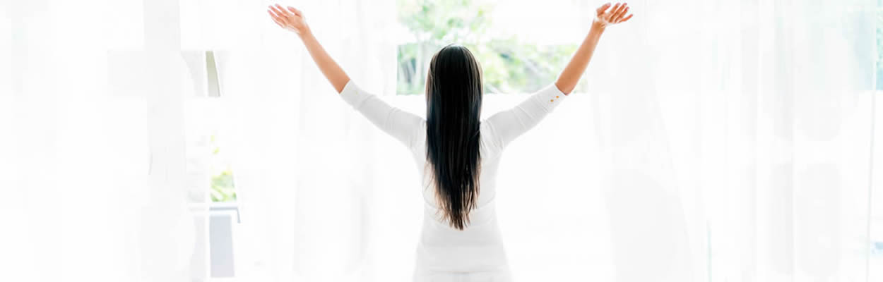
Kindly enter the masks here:
[[515, 108], [496, 113], [487, 118], [487, 127], [493, 131], [494, 145], [500, 149], [509, 142], [531, 130], [551, 113], [567, 97], [555, 84], [548, 85]]

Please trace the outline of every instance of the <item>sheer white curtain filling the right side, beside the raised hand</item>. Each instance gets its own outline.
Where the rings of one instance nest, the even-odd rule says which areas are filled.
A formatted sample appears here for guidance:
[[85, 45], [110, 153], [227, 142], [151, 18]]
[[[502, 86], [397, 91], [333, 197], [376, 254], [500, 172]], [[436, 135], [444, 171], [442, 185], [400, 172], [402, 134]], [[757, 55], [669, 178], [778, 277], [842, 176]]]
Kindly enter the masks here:
[[616, 280], [868, 278], [876, 3], [633, 5], [585, 106]]

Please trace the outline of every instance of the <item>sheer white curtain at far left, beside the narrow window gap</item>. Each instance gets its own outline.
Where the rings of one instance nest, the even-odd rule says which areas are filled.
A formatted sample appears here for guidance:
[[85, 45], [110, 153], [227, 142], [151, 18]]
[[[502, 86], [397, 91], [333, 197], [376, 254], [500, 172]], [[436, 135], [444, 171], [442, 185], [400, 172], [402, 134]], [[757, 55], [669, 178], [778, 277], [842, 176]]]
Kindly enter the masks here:
[[0, 3], [0, 280], [188, 280], [170, 3]]

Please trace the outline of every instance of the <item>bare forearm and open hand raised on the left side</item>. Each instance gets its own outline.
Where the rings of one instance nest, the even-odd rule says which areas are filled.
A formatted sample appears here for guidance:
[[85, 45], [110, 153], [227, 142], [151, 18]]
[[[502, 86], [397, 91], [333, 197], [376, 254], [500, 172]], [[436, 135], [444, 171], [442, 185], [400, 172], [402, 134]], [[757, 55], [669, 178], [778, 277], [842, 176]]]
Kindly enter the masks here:
[[334, 86], [337, 93], [343, 92], [343, 86], [350, 82], [350, 77], [346, 75], [346, 72], [337, 65], [331, 56], [328, 56], [328, 52], [325, 52], [325, 48], [322, 48], [322, 45], [313, 36], [310, 26], [306, 25], [304, 13], [291, 6], [283, 7], [279, 4], [269, 6], [267, 12], [276, 25], [298, 33], [300, 40], [304, 41], [306, 50], [313, 57], [313, 62], [319, 66], [322, 74], [325, 75], [325, 78], [328, 78], [328, 82]]

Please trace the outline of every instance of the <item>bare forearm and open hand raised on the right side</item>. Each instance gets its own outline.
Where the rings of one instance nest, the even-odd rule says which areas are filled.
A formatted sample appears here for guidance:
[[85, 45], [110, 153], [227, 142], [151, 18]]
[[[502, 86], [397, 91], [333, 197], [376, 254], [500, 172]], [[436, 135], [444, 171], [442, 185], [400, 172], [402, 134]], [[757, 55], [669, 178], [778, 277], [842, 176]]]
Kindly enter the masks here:
[[622, 23], [631, 19], [632, 15], [626, 16], [629, 13], [628, 4], [617, 3], [613, 6], [613, 9], [610, 9], [610, 11], [608, 11], [609, 8], [609, 3], [598, 8], [589, 35], [585, 36], [585, 40], [579, 45], [577, 53], [573, 54], [573, 57], [570, 58], [570, 63], [567, 63], [567, 67], [564, 67], [564, 71], [558, 76], [558, 80], [555, 81], [555, 86], [557, 86], [562, 93], [570, 94], [570, 92], [577, 87], [577, 83], [579, 82], [579, 78], [583, 76], [585, 67], [588, 66], [589, 61], [592, 60], [592, 54], [595, 52], [595, 47], [598, 46], [598, 41], [601, 38], [601, 33], [604, 33], [604, 29], [607, 26]]

